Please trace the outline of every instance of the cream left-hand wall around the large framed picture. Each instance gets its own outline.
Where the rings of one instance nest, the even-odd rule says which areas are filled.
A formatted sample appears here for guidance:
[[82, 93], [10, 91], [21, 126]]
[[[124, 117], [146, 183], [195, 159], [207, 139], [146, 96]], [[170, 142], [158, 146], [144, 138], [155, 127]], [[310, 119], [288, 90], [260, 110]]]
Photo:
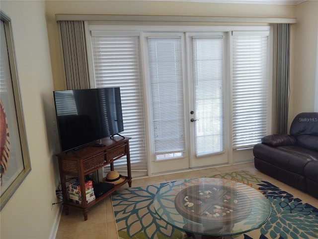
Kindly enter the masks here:
[[[0, 212], [1, 239], [46, 239], [58, 215], [53, 79], [44, 1], [1, 0], [11, 18], [31, 172]], [[1, 36], [2, 37], [2, 36]], [[53, 139], [53, 141], [52, 141]]]

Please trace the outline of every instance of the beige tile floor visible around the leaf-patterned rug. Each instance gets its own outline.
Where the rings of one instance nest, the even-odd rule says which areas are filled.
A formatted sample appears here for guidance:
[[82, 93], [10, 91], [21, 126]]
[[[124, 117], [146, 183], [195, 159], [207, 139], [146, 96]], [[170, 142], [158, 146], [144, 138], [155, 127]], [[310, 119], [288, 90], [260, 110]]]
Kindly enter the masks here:
[[[295, 197], [302, 199], [303, 203], [309, 203], [318, 208], [317, 199], [259, 172], [254, 168], [254, 163], [197, 169], [186, 172], [133, 179], [132, 187], [169, 182], [172, 180], [191, 177], [211, 176], [213, 174], [239, 170], [249, 171], [250, 173], [259, 176], [264, 180], [268, 180], [281, 189], [291, 193]], [[128, 187], [128, 184], [122, 187]], [[115, 217], [110, 197], [107, 197], [105, 200], [89, 209], [87, 221], [84, 221], [84, 217], [81, 211], [78, 209], [70, 207], [68, 216], [65, 215], [63, 210], [56, 239], [118, 239]]]

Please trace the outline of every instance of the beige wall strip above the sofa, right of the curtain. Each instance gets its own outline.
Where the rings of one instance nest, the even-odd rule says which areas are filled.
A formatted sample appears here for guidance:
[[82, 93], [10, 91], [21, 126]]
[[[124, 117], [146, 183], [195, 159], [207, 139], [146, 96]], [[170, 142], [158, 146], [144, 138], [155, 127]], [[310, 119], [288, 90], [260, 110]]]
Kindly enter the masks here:
[[305, 1], [298, 4], [296, 9], [294, 117], [301, 112], [313, 112], [315, 109], [318, 1]]

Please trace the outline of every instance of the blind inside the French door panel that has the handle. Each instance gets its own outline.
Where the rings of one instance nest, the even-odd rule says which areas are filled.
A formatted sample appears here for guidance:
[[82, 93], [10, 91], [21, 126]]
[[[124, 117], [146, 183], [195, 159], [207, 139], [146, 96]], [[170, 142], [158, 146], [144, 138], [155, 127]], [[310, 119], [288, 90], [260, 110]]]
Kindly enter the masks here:
[[193, 37], [195, 153], [224, 151], [223, 37]]

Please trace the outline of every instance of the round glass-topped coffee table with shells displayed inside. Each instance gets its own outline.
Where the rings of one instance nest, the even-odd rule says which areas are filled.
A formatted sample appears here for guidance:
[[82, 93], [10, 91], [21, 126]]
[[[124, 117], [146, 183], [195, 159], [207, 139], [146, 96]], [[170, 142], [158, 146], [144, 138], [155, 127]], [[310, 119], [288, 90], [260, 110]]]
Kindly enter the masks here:
[[232, 238], [259, 228], [271, 213], [259, 191], [220, 178], [169, 183], [156, 194], [154, 209], [164, 222], [195, 239]]

